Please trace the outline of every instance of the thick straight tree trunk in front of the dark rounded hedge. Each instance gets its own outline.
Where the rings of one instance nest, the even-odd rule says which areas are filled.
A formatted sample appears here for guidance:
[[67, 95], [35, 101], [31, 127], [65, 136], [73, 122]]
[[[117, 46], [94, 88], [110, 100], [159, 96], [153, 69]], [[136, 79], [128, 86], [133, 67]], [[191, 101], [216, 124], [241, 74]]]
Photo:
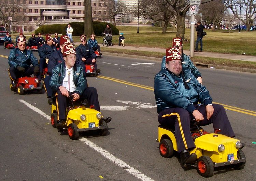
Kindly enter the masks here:
[[84, 0], [84, 35], [90, 36], [91, 34], [94, 34], [91, 0]]

